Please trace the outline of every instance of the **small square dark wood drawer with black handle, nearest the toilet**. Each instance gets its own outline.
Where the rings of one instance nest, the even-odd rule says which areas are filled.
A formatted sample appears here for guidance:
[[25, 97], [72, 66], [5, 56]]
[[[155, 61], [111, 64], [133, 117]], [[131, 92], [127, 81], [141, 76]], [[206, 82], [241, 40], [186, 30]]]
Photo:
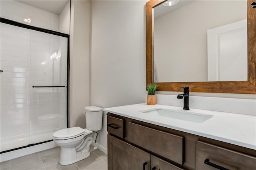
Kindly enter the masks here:
[[108, 115], [108, 133], [124, 138], [124, 120]]

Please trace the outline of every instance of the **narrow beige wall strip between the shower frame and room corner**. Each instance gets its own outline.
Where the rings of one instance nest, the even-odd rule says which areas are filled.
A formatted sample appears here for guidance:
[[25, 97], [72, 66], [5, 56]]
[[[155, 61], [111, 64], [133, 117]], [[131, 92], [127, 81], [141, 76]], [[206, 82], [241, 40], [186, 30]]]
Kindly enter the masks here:
[[89, 105], [90, 2], [71, 2], [70, 127], [85, 128], [84, 107]]

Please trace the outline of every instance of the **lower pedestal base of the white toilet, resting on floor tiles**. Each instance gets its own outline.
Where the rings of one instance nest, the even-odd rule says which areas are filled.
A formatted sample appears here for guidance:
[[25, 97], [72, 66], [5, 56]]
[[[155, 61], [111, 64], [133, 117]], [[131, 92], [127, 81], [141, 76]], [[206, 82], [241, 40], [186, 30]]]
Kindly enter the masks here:
[[83, 152], [83, 150], [76, 152], [76, 148], [61, 148], [59, 163], [61, 165], [70, 165], [88, 158], [89, 156], [90, 152]]

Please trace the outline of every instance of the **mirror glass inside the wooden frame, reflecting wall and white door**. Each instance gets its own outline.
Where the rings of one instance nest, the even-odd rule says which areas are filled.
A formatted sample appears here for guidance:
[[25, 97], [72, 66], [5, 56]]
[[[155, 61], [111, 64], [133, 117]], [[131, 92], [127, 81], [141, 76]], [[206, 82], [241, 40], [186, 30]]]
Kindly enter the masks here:
[[154, 82], [246, 81], [246, 3], [180, 0], [154, 8]]

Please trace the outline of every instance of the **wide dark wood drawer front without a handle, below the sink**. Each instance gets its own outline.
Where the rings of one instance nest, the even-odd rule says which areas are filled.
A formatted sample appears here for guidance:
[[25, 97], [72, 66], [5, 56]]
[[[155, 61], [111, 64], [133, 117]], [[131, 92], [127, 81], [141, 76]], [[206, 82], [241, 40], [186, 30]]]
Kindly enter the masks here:
[[128, 123], [128, 141], [169, 160], [184, 163], [184, 137]]

